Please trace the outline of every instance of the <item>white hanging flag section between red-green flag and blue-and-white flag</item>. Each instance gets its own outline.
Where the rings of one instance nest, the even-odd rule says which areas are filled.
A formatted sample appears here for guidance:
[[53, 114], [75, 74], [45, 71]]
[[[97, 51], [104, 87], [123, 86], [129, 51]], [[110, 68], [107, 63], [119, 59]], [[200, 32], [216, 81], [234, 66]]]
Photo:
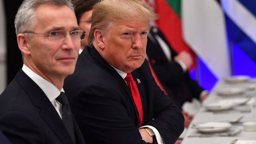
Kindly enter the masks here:
[[231, 75], [225, 16], [216, 0], [183, 0], [182, 28], [184, 40], [215, 77]]

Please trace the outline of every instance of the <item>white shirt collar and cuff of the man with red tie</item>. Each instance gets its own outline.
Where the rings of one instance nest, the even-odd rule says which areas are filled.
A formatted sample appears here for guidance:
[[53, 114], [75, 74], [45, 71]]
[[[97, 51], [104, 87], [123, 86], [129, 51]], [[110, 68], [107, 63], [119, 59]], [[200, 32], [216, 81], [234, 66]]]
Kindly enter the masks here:
[[[111, 66], [112, 66], [112, 65], [111, 65]], [[113, 66], [112, 66], [112, 67], [113, 67]], [[127, 75], [126, 72], [120, 71], [119, 69], [117, 69], [117, 68], [115, 68], [115, 67], [113, 67], [113, 68], [118, 72], [118, 74], [119, 74], [123, 79], [126, 77], [126, 75]], [[125, 81], [125, 82], [126, 82], [126, 81]], [[126, 84], [127, 84], [127, 82], [126, 82]], [[160, 135], [160, 133], [158, 132], [158, 130], [157, 130], [156, 128], [154, 128], [153, 126], [146, 125], [146, 126], [140, 127], [139, 129], [141, 129], [141, 128], [146, 128], [146, 127], [148, 127], [148, 128], [150, 128], [150, 129], [153, 130], [153, 132], [154, 132], [155, 135], [156, 135], [156, 141], [157, 141], [157, 143], [159, 143], [159, 144], [165, 144], [163, 137]]]

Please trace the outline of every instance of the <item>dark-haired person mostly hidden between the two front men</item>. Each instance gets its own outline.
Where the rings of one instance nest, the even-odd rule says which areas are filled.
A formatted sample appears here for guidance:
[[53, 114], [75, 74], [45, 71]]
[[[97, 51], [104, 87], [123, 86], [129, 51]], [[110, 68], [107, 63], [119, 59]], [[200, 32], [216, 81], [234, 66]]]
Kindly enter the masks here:
[[75, 14], [78, 26], [81, 30], [85, 31], [85, 38], [81, 41], [81, 47], [79, 49], [79, 54], [83, 51], [84, 47], [87, 45], [88, 34], [92, 25], [92, 9], [98, 0], [74, 0]]

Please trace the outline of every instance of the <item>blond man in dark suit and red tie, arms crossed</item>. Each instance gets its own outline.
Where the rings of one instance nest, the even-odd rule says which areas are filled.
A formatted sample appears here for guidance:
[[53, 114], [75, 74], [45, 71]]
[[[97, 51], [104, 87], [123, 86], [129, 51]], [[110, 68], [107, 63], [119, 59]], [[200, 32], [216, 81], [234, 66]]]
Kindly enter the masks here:
[[137, 0], [94, 6], [89, 46], [64, 83], [87, 144], [145, 144], [155, 138], [171, 144], [182, 133], [182, 113], [145, 60], [149, 22], [156, 18]]

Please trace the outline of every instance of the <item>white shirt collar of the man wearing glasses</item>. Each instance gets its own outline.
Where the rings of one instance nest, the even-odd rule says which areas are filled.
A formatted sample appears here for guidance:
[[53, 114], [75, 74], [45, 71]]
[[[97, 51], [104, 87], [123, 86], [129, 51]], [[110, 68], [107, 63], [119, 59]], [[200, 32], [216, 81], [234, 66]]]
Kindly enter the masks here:
[[56, 86], [54, 86], [47, 80], [43, 79], [41, 76], [36, 74], [25, 64], [23, 64], [22, 70], [42, 89], [42, 91], [45, 93], [45, 95], [51, 102], [60, 95], [60, 92], [64, 92], [63, 88], [61, 88], [61, 90], [59, 91], [59, 89]]

